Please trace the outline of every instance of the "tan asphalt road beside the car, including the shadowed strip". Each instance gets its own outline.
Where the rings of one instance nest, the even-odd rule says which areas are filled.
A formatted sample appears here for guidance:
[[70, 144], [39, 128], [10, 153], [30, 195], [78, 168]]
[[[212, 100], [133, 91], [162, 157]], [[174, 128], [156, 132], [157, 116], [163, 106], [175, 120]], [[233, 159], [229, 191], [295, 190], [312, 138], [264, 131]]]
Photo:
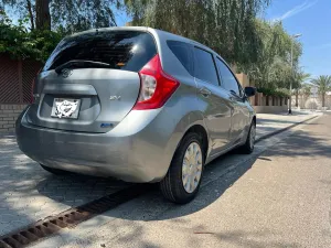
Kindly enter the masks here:
[[35, 247], [329, 248], [330, 132], [325, 114], [249, 157], [216, 160], [190, 204], [150, 192]]

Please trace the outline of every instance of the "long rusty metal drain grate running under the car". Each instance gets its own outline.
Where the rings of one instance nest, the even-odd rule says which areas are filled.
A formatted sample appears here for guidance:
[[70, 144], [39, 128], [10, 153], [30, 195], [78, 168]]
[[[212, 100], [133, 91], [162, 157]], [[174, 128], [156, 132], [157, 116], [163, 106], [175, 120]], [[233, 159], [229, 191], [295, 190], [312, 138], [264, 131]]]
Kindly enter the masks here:
[[25, 247], [57, 233], [62, 228], [73, 228], [82, 222], [141, 195], [149, 188], [150, 185], [148, 184], [135, 185], [82, 206], [70, 208], [56, 216], [47, 217], [28, 227], [1, 236], [0, 248]]

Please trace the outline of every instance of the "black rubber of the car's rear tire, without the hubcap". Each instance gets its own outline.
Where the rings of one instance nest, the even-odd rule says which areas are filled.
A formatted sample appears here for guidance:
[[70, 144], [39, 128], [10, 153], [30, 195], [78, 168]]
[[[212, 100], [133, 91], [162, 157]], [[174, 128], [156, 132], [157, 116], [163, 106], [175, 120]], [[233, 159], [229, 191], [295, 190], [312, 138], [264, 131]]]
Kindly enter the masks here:
[[[201, 170], [200, 182], [196, 188], [192, 193], [188, 193], [182, 182], [182, 163], [183, 163], [186, 149], [193, 142], [196, 142], [201, 149], [202, 170]], [[160, 188], [163, 196], [167, 200], [178, 204], [185, 204], [191, 202], [195, 197], [200, 188], [200, 184], [203, 176], [204, 161], [205, 161], [205, 149], [203, 147], [202, 137], [193, 132], [188, 133], [182, 139], [180, 145], [178, 147], [166, 177], [160, 182]]]

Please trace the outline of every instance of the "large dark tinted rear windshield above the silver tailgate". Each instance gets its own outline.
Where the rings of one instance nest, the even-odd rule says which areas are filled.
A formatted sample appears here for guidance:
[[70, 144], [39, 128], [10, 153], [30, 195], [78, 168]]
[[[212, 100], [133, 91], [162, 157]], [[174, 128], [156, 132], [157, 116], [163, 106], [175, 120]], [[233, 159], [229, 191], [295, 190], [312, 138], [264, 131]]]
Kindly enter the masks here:
[[154, 40], [149, 33], [93, 32], [64, 39], [47, 60], [44, 71], [70, 61], [93, 61], [107, 63], [109, 68], [139, 72], [156, 54]]

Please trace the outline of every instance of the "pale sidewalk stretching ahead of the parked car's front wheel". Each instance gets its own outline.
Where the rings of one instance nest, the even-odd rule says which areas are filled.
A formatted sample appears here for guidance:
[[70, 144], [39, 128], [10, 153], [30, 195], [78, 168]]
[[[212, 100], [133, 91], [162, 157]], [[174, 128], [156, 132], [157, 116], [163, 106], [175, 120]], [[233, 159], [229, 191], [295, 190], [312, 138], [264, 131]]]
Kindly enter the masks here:
[[292, 115], [284, 114], [257, 114], [256, 140], [265, 139], [268, 136], [291, 128], [302, 121], [321, 116], [322, 112], [292, 111]]

